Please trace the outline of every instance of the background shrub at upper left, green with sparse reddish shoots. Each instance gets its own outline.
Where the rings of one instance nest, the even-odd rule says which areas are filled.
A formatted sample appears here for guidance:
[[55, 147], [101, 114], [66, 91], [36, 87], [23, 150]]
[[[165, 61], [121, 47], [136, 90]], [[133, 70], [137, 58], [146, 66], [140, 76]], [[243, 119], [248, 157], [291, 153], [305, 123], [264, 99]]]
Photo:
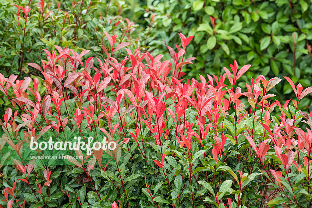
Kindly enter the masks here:
[[[17, 5], [18, 4], [18, 5]], [[42, 49], [55, 50], [54, 45], [75, 52], [91, 50], [90, 56], [107, 58], [101, 47], [109, 42], [105, 32], [124, 38], [137, 48], [133, 36], [137, 27], [129, 21], [129, 5], [106, 1], [30, 1], [29, 3], [2, 0], [0, 3], [0, 67], [2, 74], [21, 77], [39, 71], [27, 63], [41, 64]], [[130, 47], [130, 46], [128, 46]]]

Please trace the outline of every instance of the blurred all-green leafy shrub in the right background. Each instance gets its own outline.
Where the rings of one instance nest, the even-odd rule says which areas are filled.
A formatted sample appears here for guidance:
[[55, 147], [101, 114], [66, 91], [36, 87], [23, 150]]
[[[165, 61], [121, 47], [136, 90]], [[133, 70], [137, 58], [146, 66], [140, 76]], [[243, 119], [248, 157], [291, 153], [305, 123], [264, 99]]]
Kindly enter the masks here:
[[[190, 79], [199, 79], [198, 74], [219, 76], [236, 59], [241, 65], [252, 65], [238, 83], [242, 89], [250, 76], [259, 74], [288, 76], [294, 83], [311, 86], [310, 1], [163, 0], [148, 1], [142, 7], [145, 10], [139, 15], [149, 21], [154, 14], [151, 29], [145, 29], [154, 55], [169, 58], [166, 45], [174, 46], [178, 33], [194, 35], [187, 49], [188, 56], [197, 58], [187, 69]], [[292, 92], [286, 82], [274, 93], [280, 93], [284, 102]], [[310, 104], [307, 100], [302, 103]]]

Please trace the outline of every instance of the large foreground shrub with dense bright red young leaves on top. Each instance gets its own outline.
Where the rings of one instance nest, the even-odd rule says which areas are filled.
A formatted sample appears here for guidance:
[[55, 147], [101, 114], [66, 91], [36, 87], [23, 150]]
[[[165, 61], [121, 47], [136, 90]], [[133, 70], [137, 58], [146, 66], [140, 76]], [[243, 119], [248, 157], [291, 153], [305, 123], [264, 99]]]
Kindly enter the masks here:
[[[43, 78], [0, 74], [0, 91], [11, 103], [0, 123], [0, 204], [310, 207], [312, 112], [298, 106], [312, 87], [295, 86], [285, 77], [296, 96], [273, 102], [270, 90], [282, 79], [259, 75], [242, 92], [237, 82], [251, 65], [238, 67], [236, 61], [220, 77], [200, 75], [199, 81], [182, 83], [182, 67], [197, 60], [182, 61], [193, 37], [179, 36], [178, 50], [167, 46], [169, 60], [121, 48], [120, 37], [113, 44], [115, 37], [108, 35], [115, 50], [104, 61], [86, 58], [88, 50], [77, 54], [55, 46], [35, 67]], [[121, 61], [115, 58], [119, 47], [128, 54]], [[305, 123], [309, 128], [302, 128]], [[73, 133], [105, 135], [117, 148], [94, 149], [91, 155], [76, 150], [63, 166], [28, 161], [46, 153], [30, 151], [31, 137], [67, 141]], [[112, 160], [103, 162], [105, 155]]]

